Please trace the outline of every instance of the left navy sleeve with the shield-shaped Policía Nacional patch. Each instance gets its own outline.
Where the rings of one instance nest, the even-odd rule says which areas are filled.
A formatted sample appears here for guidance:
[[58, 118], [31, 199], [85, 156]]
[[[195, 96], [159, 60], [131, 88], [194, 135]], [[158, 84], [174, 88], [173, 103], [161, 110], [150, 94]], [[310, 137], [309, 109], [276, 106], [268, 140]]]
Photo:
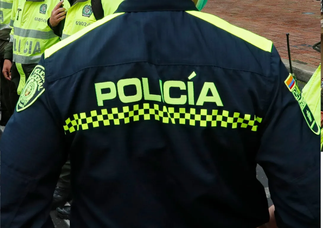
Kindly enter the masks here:
[[29, 101], [21, 100], [21, 95], [1, 137], [1, 227], [50, 227], [52, 223], [53, 192], [67, 152], [64, 130], [49, 105], [46, 74], [42, 57], [26, 82], [26, 87], [32, 78], [33, 85], [37, 82], [36, 90], [28, 88], [34, 95]]

